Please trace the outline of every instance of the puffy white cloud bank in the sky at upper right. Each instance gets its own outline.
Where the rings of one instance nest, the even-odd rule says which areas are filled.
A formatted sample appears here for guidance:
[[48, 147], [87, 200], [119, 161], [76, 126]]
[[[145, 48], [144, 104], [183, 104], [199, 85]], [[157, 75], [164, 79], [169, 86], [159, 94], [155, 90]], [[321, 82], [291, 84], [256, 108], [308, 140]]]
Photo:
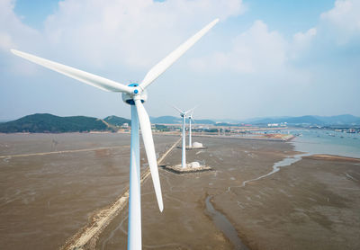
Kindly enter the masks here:
[[293, 62], [311, 59], [316, 54], [326, 56], [338, 45], [343, 46], [351, 40], [358, 42], [359, 13], [359, 0], [337, 0], [331, 10], [320, 14], [317, 25], [295, 33], [292, 40], [285, 40], [278, 31], [269, 31], [265, 22], [256, 21], [232, 40], [230, 49], [193, 58], [191, 65], [202, 72], [211, 68], [211, 71], [242, 74], [271, 72], [281, 77], [285, 71], [296, 71]]

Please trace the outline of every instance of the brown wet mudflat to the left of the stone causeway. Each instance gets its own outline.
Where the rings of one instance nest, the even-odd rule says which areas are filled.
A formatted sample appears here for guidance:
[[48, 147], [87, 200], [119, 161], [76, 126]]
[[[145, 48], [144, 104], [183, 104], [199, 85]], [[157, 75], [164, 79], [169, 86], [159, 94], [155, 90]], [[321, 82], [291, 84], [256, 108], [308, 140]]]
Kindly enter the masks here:
[[[157, 154], [176, 139], [154, 136]], [[128, 186], [129, 145], [128, 134], [0, 135], [0, 248], [62, 246]]]

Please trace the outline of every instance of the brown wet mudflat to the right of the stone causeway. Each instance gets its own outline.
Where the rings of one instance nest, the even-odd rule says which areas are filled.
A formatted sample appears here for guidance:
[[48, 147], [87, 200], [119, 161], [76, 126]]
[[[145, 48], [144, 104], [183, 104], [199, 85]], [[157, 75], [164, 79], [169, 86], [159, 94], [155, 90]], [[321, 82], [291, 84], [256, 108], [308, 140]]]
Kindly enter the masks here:
[[[209, 197], [249, 249], [359, 249], [359, 163], [300, 158], [269, 174], [275, 163], [300, 153], [284, 142], [195, 141], [208, 149], [186, 152], [187, 160], [215, 171], [173, 174], [160, 169], [163, 213], [157, 210], [151, 182], [143, 184], [143, 249], [240, 249], [234, 246], [237, 239], [209, 215]], [[179, 164], [180, 156], [175, 149], [165, 162]], [[244, 184], [248, 180], [253, 181]], [[126, 248], [126, 231], [125, 211], [103, 231], [96, 248]]]

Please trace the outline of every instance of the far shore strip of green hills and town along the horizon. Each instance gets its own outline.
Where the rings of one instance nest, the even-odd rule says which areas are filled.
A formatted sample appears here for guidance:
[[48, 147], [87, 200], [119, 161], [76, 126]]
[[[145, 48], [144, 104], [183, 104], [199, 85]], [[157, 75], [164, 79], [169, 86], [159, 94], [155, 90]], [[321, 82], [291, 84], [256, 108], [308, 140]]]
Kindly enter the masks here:
[[[178, 129], [181, 119], [175, 116], [151, 117], [150, 121], [158, 131]], [[186, 121], [187, 123], [188, 121]], [[338, 116], [300, 116], [300, 117], [270, 117], [246, 121], [211, 121], [194, 120], [193, 131], [218, 133], [230, 132], [246, 128], [307, 128], [307, 129], [335, 129], [344, 132], [360, 132], [360, 118], [352, 115]], [[115, 115], [104, 119], [86, 116], [60, 117], [49, 113], [36, 113], [24, 116], [15, 121], [0, 122], [0, 133], [64, 133], [90, 131], [118, 131], [130, 129], [131, 121]], [[240, 128], [240, 130], [236, 129]]]

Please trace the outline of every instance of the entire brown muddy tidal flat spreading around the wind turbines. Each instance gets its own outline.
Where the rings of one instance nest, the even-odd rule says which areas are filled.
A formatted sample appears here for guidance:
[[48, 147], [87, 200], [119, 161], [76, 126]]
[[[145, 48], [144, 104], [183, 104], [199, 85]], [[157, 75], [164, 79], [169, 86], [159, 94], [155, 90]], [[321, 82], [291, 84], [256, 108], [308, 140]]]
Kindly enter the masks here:
[[[155, 135], [158, 155], [177, 139]], [[360, 248], [360, 161], [315, 156], [292, 161], [302, 152], [280, 141], [193, 141], [208, 148], [187, 151], [187, 161], [214, 171], [174, 174], [159, 166], [162, 213], [151, 178], [143, 183], [143, 249]], [[127, 188], [129, 146], [128, 134], [0, 135], [0, 245], [62, 246]], [[33, 155], [52, 151], [65, 153]], [[8, 157], [17, 154], [32, 155]], [[284, 158], [292, 165], [277, 164], [279, 170], [269, 174]], [[163, 164], [180, 161], [181, 149], [175, 148]], [[96, 249], [126, 248], [127, 216], [122, 210], [112, 220]]]

